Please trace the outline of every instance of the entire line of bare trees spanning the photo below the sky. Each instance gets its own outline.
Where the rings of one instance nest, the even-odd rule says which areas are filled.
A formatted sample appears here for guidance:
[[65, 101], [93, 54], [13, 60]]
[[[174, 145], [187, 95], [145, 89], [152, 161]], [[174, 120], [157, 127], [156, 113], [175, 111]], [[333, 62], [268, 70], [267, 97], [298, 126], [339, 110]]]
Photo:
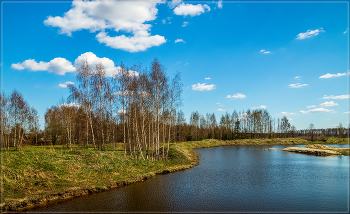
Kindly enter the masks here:
[[[70, 96], [47, 109], [45, 129], [19, 92], [3, 93], [1, 101], [2, 147], [21, 145], [72, 145], [104, 150], [123, 143], [124, 154], [144, 159], [166, 159], [170, 142], [203, 139], [253, 139], [347, 137], [349, 128], [297, 130], [286, 116], [272, 118], [266, 109], [226, 112], [219, 121], [214, 113], [193, 112], [186, 122], [181, 106], [180, 74], [167, 77], [154, 59], [149, 68], [141, 64], [114, 71], [87, 60], [77, 68], [77, 86], [68, 84]], [[111, 75], [112, 72], [112, 75]]]

